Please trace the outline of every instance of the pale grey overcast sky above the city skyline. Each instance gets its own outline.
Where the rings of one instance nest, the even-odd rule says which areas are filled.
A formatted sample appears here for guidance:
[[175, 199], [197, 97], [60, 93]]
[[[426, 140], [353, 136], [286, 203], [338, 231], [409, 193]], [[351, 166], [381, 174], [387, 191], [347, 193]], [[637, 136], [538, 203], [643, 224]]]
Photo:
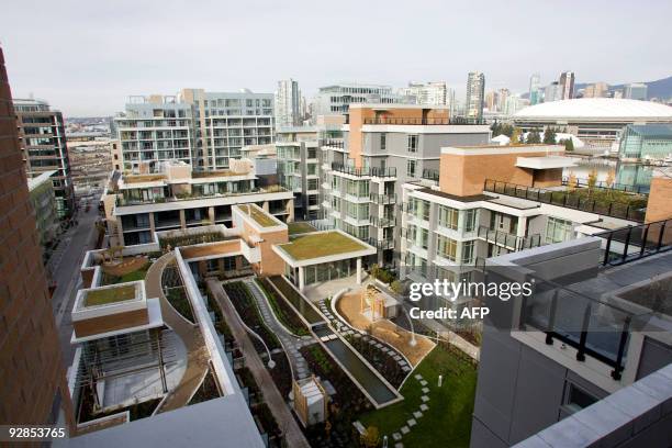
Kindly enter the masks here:
[[514, 91], [535, 71], [544, 85], [567, 69], [578, 82], [672, 75], [668, 0], [7, 0], [1, 15], [13, 96], [70, 116], [289, 77], [309, 97], [338, 81], [446, 80], [461, 98], [470, 70]]

